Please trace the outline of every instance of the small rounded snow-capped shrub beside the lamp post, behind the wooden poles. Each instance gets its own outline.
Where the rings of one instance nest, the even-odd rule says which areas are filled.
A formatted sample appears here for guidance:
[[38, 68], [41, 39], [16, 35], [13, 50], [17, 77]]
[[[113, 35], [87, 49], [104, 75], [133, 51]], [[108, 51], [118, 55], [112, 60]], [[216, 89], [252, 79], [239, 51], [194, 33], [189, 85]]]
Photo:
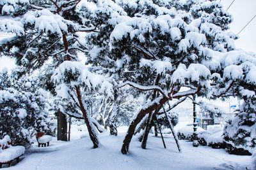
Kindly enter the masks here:
[[[204, 129], [202, 129], [202, 127], [197, 127], [197, 131], [196, 132], [202, 132], [205, 131]], [[188, 141], [193, 141], [193, 125], [187, 125], [185, 127], [182, 127], [178, 130], [177, 132], [177, 136], [180, 140], [188, 140]]]

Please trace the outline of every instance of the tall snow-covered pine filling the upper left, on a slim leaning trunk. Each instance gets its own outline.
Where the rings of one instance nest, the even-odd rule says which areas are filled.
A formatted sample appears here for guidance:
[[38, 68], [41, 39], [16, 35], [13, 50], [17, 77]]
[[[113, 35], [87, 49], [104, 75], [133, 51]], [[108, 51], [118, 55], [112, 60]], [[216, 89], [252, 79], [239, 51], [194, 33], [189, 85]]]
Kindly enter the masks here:
[[[15, 34], [13, 38], [3, 41], [0, 49], [1, 52], [3, 52], [4, 55], [9, 55], [17, 59], [17, 65], [20, 66], [20, 75], [44, 66], [49, 59], [51, 59], [52, 62], [52, 69], [60, 66], [65, 60], [69, 62], [63, 64], [62, 67], [67, 66], [67, 63], [70, 63], [70, 66], [78, 64], [78, 62], [76, 62], [76, 60], [79, 60], [77, 58], [77, 52], [86, 53], [87, 47], [86, 44], [81, 41], [77, 32], [90, 32], [96, 31], [97, 29], [95, 26], [90, 25], [90, 23], [88, 24], [88, 19], [83, 17], [84, 13], [86, 15], [86, 13], [90, 12], [84, 8], [85, 4], [88, 4], [88, 1], [1, 1], [1, 5], [3, 6], [2, 14], [5, 15], [6, 18], [0, 20], [0, 31]], [[73, 61], [74, 64], [72, 64]], [[65, 80], [66, 77], [63, 75], [64, 73], [61, 74], [62, 76], [55, 73], [60, 77], [57, 78], [53, 76], [52, 78], [58, 83], [65, 82], [75, 84], [72, 83], [72, 80], [79, 78], [76, 74], [80, 73], [79, 70], [75, 71], [76, 66], [72, 68], [67, 66], [66, 68], [67, 69], [58, 69], [58, 73], [61, 74], [60, 71], [72, 73], [70, 75], [65, 74], [67, 80]], [[68, 72], [68, 70], [70, 71]], [[77, 77], [72, 78], [72, 76]], [[59, 78], [64, 78], [64, 80], [60, 80]], [[87, 77], [84, 76], [83, 78]], [[86, 80], [83, 80], [83, 83], [85, 81]], [[91, 81], [87, 82], [90, 83]], [[76, 106], [80, 109], [81, 113], [83, 113], [90, 138], [93, 141], [93, 147], [97, 148], [99, 141], [96, 137], [97, 135], [92, 130], [93, 127], [90, 117], [86, 112], [86, 105], [83, 103], [83, 96], [79, 85], [81, 84], [76, 83], [75, 87], [72, 86], [72, 90], [74, 90], [75, 94], [70, 95], [75, 96], [68, 96], [68, 99], [70, 99], [70, 102], [73, 102], [72, 97], [76, 97]], [[87, 84], [84, 83], [83, 85]], [[104, 83], [104, 85], [106, 85], [106, 83]], [[61, 85], [58, 85], [58, 88], [60, 87]], [[58, 90], [65, 91], [67, 89]]]

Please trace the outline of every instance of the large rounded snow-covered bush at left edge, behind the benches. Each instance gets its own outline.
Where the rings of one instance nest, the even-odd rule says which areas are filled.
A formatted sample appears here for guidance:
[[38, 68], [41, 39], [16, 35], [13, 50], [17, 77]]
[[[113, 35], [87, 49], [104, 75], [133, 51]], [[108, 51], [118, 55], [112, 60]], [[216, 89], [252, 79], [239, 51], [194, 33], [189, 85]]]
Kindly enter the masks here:
[[0, 90], [0, 137], [8, 134], [15, 145], [28, 148], [36, 132], [54, 135], [55, 127], [45, 111], [44, 90], [36, 89], [31, 79], [9, 80]]

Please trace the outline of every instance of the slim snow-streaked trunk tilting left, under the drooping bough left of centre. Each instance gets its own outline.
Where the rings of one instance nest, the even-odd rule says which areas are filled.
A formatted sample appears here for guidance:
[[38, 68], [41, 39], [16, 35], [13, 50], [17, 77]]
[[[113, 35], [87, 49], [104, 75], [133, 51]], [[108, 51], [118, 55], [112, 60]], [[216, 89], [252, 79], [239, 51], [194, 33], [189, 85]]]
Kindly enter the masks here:
[[97, 135], [95, 134], [95, 132], [92, 129], [92, 122], [90, 121], [90, 118], [88, 117], [88, 115], [86, 113], [86, 109], [84, 108], [84, 103], [82, 101], [83, 99], [82, 99], [81, 91], [80, 91], [79, 87], [76, 87], [76, 93], [77, 93], [77, 99], [79, 101], [79, 105], [80, 105], [81, 111], [83, 113], [83, 117], [84, 117], [87, 129], [89, 132], [90, 139], [92, 140], [92, 143], [93, 143], [93, 148], [98, 148], [99, 139], [97, 138]]

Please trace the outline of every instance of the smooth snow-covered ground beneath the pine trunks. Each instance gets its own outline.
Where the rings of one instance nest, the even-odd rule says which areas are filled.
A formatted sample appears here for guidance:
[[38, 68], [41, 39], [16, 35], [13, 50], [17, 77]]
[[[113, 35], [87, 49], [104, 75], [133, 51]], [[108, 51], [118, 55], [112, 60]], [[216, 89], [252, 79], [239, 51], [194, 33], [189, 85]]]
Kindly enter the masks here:
[[38, 148], [35, 145], [19, 164], [9, 169], [252, 169], [250, 156], [229, 155], [223, 149], [207, 146], [194, 148], [187, 141], [180, 141], [182, 153], [179, 153], [169, 134], [164, 134], [166, 149], [160, 137], [150, 134], [147, 150], [141, 149], [138, 137], [134, 137], [129, 155], [122, 155], [120, 148], [126, 131], [127, 127], [120, 127], [118, 136], [109, 136], [108, 132], [99, 134], [102, 145], [92, 149], [88, 135], [80, 138], [86, 134], [84, 128], [73, 125], [70, 142], [54, 138], [49, 147]]

